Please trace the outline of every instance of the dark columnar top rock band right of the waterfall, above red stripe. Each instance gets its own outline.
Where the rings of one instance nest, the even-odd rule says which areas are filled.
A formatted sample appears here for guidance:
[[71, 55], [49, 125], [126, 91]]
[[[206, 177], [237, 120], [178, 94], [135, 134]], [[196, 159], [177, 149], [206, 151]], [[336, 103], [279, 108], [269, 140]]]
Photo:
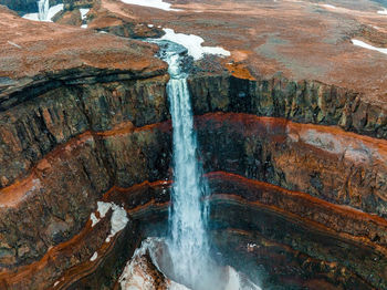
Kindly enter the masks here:
[[387, 107], [344, 87], [316, 81], [294, 82], [276, 76], [242, 80], [228, 73], [191, 77], [195, 113], [248, 113], [284, 117], [299, 123], [335, 125], [377, 138], [387, 138]]

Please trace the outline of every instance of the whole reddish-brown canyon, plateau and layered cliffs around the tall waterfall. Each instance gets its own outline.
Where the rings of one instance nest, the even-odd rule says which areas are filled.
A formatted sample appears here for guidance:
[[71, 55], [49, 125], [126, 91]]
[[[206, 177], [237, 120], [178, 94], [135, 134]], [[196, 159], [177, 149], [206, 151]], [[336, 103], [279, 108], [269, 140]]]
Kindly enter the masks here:
[[[387, 45], [377, 3], [63, 2], [57, 23], [0, 6], [0, 289], [119, 289], [166, 235], [170, 75], [139, 40], [163, 28], [231, 52], [187, 58], [221, 263], [262, 289], [387, 288], [387, 55], [351, 43]], [[113, 236], [98, 201], [126, 210]]]

